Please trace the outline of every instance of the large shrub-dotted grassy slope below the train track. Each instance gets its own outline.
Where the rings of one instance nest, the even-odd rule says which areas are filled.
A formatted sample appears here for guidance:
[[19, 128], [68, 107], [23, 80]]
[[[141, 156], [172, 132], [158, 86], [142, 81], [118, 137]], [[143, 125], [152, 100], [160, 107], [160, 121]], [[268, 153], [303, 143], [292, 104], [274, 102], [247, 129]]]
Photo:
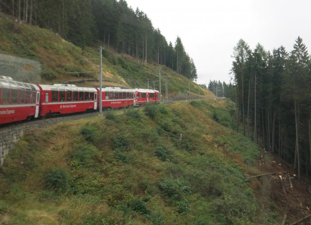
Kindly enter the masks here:
[[28, 132], [0, 170], [0, 224], [276, 224], [232, 114], [189, 101]]

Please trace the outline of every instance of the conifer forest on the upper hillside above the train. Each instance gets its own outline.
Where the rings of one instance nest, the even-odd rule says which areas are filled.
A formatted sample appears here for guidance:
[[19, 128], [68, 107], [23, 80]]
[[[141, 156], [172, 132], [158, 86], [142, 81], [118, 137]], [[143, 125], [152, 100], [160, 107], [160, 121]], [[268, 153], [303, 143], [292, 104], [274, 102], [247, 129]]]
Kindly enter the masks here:
[[0, 13], [50, 29], [82, 48], [104, 44], [106, 49], [197, 79], [181, 38], [168, 43], [143, 11], [134, 11], [125, 0], [0, 0]]

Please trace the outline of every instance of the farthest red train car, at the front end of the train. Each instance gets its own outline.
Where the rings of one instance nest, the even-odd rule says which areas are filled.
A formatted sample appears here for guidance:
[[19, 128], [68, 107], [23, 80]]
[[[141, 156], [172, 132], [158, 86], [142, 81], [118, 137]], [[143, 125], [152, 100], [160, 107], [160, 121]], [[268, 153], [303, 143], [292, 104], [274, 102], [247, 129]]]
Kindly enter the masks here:
[[136, 105], [144, 105], [147, 103], [159, 103], [160, 93], [156, 90], [150, 89], [135, 89], [136, 94]]

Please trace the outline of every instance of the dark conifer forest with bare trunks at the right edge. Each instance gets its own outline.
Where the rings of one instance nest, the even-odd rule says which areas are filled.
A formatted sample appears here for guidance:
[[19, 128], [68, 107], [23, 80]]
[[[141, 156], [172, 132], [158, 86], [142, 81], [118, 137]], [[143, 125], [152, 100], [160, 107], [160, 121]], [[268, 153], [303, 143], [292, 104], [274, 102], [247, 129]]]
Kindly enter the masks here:
[[311, 60], [303, 39], [295, 39], [291, 52], [280, 46], [272, 53], [240, 39], [232, 57], [234, 84], [223, 86], [237, 103], [240, 132], [294, 165], [298, 177], [310, 175]]

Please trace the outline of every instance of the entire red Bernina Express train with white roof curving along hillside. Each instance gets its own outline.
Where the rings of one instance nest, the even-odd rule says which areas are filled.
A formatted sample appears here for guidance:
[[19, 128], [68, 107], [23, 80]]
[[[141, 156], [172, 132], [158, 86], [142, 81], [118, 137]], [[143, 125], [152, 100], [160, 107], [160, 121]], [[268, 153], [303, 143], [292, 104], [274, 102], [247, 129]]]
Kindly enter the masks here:
[[[40, 116], [98, 110], [99, 88], [44, 85], [0, 77], [0, 124]], [[149, 89], [102, 89], [102, 108], [113, 109], [159, 103], [160, 93]]]

